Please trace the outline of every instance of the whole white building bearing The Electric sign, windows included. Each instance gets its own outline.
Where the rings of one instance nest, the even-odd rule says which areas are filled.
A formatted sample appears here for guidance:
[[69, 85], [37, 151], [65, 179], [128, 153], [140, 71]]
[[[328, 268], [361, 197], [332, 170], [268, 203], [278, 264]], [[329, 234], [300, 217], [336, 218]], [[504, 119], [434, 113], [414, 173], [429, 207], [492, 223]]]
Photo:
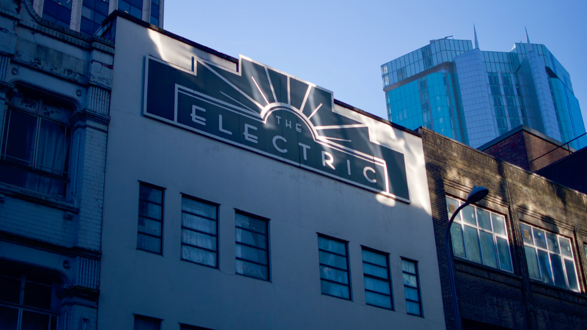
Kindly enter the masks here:
[[444, 329], [422, 142], [128, 16], [98, 329]]

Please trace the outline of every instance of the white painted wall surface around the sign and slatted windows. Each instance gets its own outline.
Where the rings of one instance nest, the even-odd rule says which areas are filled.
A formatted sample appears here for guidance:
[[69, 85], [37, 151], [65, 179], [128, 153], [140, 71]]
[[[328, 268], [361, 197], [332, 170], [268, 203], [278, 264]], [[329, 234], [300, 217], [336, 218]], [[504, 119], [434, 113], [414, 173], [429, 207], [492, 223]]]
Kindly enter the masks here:
[[[116, 29], [99, 329], [132, 329], [133, 314], [164, 330], [444, 329], [419, 137], [336, 106], [404, 154], [405, 204], [158, 122], [141, 114], [145, 56], [235, 65], [120, 17]], [[166, 188], [163, 255], [136, 249], [139, 180]], [[180, 260], [181, 193], [220, 204], [218, 269]], [[271, 282], [235, 274], [235, 208], [271, 219]], [[349, 241], [352, 301], [321, 294], [316, 233]], [[365, 305], [361, 245], [390, 253], [395, 311]], [[406, 314], [400, 257], [419, 261], [423, 318]]]

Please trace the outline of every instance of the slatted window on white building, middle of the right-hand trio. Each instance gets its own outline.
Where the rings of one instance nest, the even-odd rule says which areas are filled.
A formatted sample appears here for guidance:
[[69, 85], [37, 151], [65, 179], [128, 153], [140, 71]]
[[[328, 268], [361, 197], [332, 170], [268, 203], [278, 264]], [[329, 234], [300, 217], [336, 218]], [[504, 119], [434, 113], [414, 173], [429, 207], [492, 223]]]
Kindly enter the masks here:
[[366, 247], [362, 252], [366, 304], [393, 309], [389, 254]]

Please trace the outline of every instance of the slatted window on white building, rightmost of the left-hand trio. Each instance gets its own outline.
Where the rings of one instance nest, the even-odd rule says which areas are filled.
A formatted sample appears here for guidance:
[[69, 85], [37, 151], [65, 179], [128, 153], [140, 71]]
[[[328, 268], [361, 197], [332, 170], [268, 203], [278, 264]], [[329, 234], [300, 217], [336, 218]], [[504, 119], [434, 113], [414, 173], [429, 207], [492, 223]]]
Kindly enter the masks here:
[[269, 281], [268, 221], [235, 214], [237, 273]]

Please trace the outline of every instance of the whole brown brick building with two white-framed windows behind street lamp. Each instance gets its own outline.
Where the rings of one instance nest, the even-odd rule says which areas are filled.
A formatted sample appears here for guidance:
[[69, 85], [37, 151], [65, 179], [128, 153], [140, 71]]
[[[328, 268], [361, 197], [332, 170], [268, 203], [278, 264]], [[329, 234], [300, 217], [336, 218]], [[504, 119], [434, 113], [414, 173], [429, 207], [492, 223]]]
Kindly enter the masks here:
[[447, 329], [454, 329], [444, 235], [474, 186], [488, 196], [451, 227], [464, 329], [583, 329], [587, 196], [420, 128]]

